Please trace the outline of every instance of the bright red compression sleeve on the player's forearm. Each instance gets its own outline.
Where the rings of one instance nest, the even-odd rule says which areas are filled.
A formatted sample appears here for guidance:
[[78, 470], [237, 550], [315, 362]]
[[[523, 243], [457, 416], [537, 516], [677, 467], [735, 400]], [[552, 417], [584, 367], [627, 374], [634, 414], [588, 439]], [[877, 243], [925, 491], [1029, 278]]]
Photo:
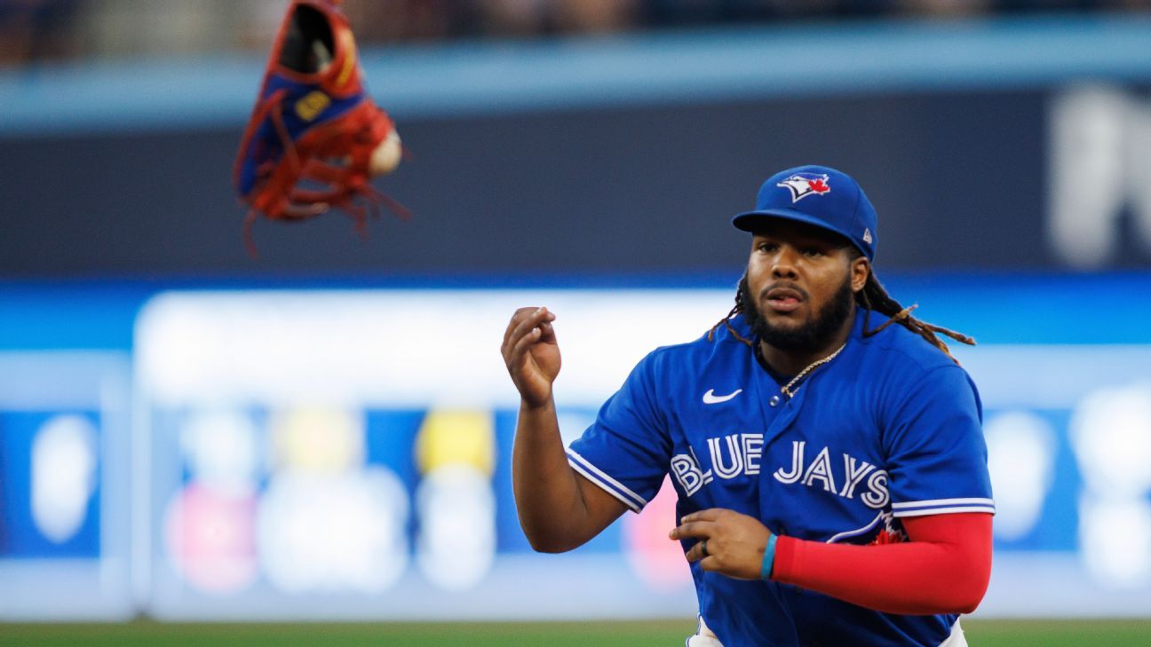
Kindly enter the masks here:
[[991, 577], [991, 515], [904, 517], [909, 541], [881, 546], [780, 536], [771, 579], [889, 614], [969, 614]]

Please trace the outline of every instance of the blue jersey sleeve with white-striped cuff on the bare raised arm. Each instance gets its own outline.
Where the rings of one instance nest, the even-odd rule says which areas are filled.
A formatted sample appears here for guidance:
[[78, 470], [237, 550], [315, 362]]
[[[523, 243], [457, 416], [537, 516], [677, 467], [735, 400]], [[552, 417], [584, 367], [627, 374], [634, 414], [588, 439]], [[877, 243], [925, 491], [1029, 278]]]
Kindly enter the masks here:
[[668, 473], [671, 442], [654, 399], [649, 355], [600, 408], [595, 423], [567, 448], [573, 470], [639, 512]]

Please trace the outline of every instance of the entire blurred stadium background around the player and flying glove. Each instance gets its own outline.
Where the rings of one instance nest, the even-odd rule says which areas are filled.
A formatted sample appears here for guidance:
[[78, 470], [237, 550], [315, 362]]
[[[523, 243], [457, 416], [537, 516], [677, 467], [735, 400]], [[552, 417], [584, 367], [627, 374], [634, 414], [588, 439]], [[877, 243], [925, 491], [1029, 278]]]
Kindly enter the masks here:
[[231, 161], [285, 5], [0, 0], [0, 642], [678, 644], [670, 488], [572, 554], [520, 534], [498, 340], [558, 313], [579, 434], [817, 161], [891, 292], [981, 342], [971, 645], [1151, 645], [1151, 2], [346, 0], [416, 216], [252, 259]]

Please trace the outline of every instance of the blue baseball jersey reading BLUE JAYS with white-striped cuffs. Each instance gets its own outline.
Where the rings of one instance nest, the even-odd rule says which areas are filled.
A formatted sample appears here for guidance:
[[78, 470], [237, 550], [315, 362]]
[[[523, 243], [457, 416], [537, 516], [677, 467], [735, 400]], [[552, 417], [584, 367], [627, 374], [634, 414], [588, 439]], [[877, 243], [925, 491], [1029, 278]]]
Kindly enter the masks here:
[[[732, 326], [750, 337], [744, 318]], [[860, 311], [843, 351], [791, 398], [725, 326], [714, 341], [660, 348], [572, 442], [569, 463], [635, 512], [670, 473], [677, 518], [726, 508], [814, 541], [887, 543], [906, 540], [904, 517], [993, 513], [970, 378], [902, 326], [862, 330]], [[935, 647], [956, 619], [691, 570], [700, 615], [725, 647]]]

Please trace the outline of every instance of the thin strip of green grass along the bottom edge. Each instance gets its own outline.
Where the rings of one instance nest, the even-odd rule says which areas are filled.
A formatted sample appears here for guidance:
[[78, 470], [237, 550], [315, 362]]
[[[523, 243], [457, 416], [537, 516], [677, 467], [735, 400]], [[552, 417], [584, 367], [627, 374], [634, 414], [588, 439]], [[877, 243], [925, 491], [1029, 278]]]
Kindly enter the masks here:
[[[971, 647], [1148, 647], [1146, 621], [973, 621]], [[674, 647], [694, 622], [471, 623], [471, 624], [0, 624], [3, 646], [403, 645], [404, 647]]]

